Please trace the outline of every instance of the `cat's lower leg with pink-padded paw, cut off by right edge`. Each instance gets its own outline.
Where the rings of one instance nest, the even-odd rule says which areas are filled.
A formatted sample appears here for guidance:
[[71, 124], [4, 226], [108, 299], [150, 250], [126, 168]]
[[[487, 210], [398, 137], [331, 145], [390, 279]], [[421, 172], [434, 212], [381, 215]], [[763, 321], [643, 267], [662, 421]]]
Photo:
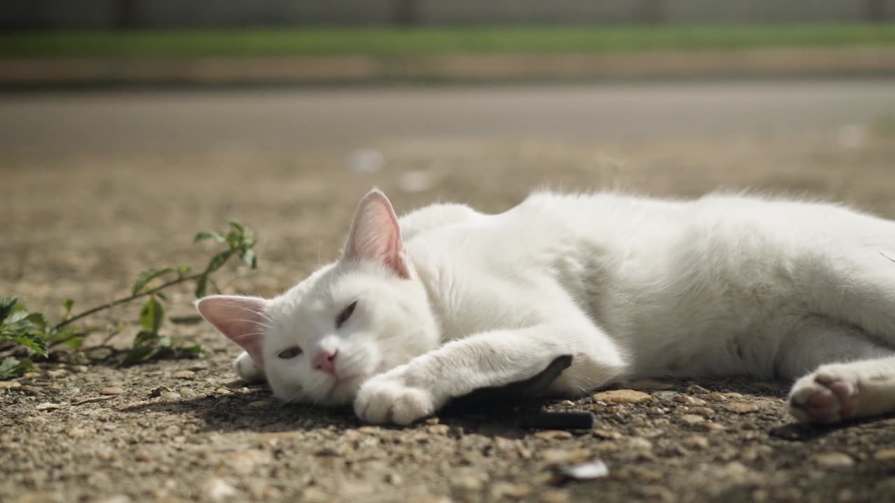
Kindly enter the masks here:
[[895, 356], [822, 365], [796, 381], [789, 411], [821, 423], [895, 412]]

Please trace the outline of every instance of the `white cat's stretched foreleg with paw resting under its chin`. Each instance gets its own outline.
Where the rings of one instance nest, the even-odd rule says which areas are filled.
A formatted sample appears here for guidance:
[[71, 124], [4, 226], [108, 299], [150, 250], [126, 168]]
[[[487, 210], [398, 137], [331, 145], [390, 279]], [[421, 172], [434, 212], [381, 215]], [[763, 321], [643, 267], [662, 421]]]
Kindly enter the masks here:
[[566, 354], [573, 356], [572, 366], [551, 391], [580, 393], [624, 377], [618, 349], [582, 318], [574, 324], [483, 332], [443, 345], [363, 383], [354, 412], [366, 422], [409, 424], [451, 398], [531, 378]]

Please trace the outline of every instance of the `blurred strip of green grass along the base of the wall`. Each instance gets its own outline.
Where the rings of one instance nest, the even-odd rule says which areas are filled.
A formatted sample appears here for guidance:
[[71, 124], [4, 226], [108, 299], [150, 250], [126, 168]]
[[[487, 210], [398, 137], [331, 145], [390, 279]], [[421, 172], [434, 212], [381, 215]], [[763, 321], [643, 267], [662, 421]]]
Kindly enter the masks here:
[[895, 44], [895, 23], [24, 31], [0, 33], [0, 57], [277, 55], [387, 57], [893, 44]]

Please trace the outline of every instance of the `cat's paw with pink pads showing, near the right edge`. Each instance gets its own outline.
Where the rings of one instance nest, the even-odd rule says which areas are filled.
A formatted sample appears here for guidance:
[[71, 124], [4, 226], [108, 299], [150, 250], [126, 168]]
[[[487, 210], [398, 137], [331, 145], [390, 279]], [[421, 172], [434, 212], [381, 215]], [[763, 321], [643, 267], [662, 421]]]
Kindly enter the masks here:
[[858, 376], [846, 365], [823, 365], [789, 391], [789, 413], [801, 422], [830, 424], [855, 416]]

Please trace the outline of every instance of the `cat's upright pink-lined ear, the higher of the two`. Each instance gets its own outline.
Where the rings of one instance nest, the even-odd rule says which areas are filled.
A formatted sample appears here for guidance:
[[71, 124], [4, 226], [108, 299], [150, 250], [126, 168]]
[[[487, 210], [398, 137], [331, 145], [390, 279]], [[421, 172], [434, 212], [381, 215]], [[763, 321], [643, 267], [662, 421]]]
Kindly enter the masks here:
[[410, 277], [395, 210], [382, 192], [372, 190], [361, 200], [345, 243], [344, 258], [378, 260], [399, 277]]

